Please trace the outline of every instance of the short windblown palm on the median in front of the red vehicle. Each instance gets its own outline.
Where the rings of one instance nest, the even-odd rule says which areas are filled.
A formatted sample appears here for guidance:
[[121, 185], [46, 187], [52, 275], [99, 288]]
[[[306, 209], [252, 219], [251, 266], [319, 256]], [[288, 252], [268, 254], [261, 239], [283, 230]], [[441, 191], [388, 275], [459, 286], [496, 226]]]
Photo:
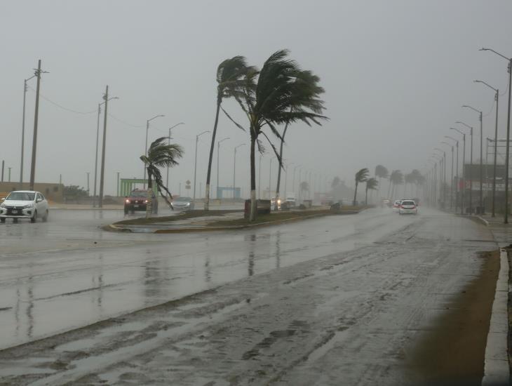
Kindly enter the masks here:
[[[147, 156], [140, 156], [140, 160], [144, 162], [147, 170], [148, 200], [151, 199], [151, 189], [153, 187], [154, 179], [156, 189], [161, 194], [163, 199], [166, 200], [166, 203], [170, 206], [170, 208], [174, 209], [173, 205], [170, 204], [166, 194], [162, 193], [163, 189], [169, 195], [170, 199], [173, 199], [173, 196], [168, 191], [166, 185], [163, 184], [162, 175], [159, 168], [166, 168], [167, 166], [173, 167], [178, 165], [177, 159], [183, 157], [184, 151], [180, 145], [175, 143], [166, 143], [167, 140], [168, 137], [161, 137], [154, 140], [154, 142], [151, 143], [151, 146], [149, 146]], [[158, 194], [155, 194], [155, 197], [158, 197]], [[146, 212], [146, 216], [149, 216], [149, 212]]]

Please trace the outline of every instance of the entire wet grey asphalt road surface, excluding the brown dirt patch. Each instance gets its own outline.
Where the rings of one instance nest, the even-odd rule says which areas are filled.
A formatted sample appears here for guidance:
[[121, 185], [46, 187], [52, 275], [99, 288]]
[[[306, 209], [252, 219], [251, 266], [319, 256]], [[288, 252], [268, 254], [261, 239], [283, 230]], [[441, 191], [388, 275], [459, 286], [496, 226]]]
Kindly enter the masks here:
[[0, 226], [0, 383], [408, 385], [407, 353], [496, 247], [478, 223], [428, 209], [98, 228], [118, 218]]

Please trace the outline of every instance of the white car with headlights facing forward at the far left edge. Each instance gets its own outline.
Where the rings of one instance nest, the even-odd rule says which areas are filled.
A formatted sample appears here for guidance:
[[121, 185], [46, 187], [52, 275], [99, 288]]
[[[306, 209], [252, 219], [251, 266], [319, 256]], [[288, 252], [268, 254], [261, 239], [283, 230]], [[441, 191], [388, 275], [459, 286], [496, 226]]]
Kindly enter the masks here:
[[1, 201], [0, 222], [6, 222], [6, 218], [18, 221], [18, 218], [29, 218], [36, 222], [37, 218], [48, 220], [48, 201], [43, 194], [33, 190], [18, 190], [11, 192]]

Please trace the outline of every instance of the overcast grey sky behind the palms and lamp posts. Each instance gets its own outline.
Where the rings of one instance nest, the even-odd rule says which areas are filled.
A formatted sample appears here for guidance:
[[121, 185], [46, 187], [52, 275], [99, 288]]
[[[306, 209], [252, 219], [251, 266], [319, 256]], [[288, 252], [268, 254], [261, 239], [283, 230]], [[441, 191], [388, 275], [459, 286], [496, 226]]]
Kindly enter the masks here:
[[[295, 124], [287, 134], [285, 161], [351, 185], [363, 167], [377, 164], [409, 172], [423, 168], [454, 121], [478, 126], [461, 105], [493, 107], [493, 93], [473, 79], [506, 91], [512, 56], [512, 3], [507, 0], [429, 1], [1, 1], [0, 159], [19, 179], [23, 79], [37, 60], [43, 69], [36, 182], [86, 185], [94, 172], [95, 110], [105, 85], [119, 97], [109, 104], [106, 193], [115, 173], [142, 178], [146, 119], [149, 138], [166, 135], [184, 146], [170, 187], [193, 179], [195, 136], [212, 130], [215, 70], [225, 58], [245, 55], [252, 65], [280, 48], [321, 77], [326, 114], [322, 127]], [[35, 79], [29, 86], [35, 88]], [[29, 178], [35, 93], [27, 93], [25, 180]], [[500, 103], [499, 137], [506, 131], [506, 95]], [[245, 123], [236, 105], [226, 108]], [[114, 119], [114, 117], [117, 119]], [[126, 122], [126, 124], [122, 123]], [[492, 136], [494, 112], [484, 118]], [[135, 126], [135, 127], [134, 127]], [[231, 185], [234, 146], [248, 134], [220, 118], [220, 185]], [[198, 182], [206, 180], [209, 135], [198, 144]], [[478, 141], [475, 142], [475, 151]], [[237, 154], [237, 184], [248, 195], [249, 147]], [[262, 189], [269, 159], [262, 161]], [[214, 162], [216, 161], [216, 154]], [[276, 162], [274, 161], [274, 166]], [[215, 170], [215, 169], [214, 169]], [[98, 173], [99, 174], [99, 173]], [[273, 176], [276, 170], [272, 171]], [[290, 180], [291, 182], [291, 173]], [[263, 182], [266, 181], [266, 182]], [[272, 182], [275, 185], [275, 182]], [[216, 174], [213, 174], [216, 185]], [[274, 189], [274, 187], [273, 187]], [[290, 190], [290, 187], [288, 188]], [[182, 194], [185, 194], [182, 189]]]

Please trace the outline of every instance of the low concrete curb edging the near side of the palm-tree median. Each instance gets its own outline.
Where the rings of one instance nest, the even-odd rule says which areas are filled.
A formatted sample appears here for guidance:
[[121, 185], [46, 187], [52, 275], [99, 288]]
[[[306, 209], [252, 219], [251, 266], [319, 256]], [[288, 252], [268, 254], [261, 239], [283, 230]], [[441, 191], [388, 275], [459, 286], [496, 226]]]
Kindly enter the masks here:
[[[363, 211], [364, 209], [361, 209]], [[308, 220], [310, 218], [319, 218], [319, 217], [325, 217], [327, 215], [353, 215], [360, 213], [361, 211], [346, 211], [342, 213], [316, 213], [312, 215], [305, 215], [302, 217], [297, 218], [288, 218], [285, 220], [276, 220], [276, 221], [267, 221], [267, 222], [260, 222], [258, 224], [248, 224], [248, 225], [234, 225], [231, 227], [183, 227], [183, 228], [163, 228], [163, 229], [155, 229], [153, 232], [147, 232], [147, 233], [157, 233], [157, 234], [169, 234], [169, 233], [187, 233], [187, 232], [215, 232], [215, 231], [222, 231], [222, 230], [239, 230], [239, 229], [249, 229], [249, 228], [255, 228], [255, 227], [266, 227], [270, 225], [280, 225], [284, 224], [286, 222], [295, 222], [295, 221], [301, 221], [301, 220]], [[109, 231], [109, 232], [133, 232], [130, 228], [120, 227], [118, 225], [109, 224], [102, 227], [103, 230]], [[136, 233], [136, 232], [133, 232]]]

